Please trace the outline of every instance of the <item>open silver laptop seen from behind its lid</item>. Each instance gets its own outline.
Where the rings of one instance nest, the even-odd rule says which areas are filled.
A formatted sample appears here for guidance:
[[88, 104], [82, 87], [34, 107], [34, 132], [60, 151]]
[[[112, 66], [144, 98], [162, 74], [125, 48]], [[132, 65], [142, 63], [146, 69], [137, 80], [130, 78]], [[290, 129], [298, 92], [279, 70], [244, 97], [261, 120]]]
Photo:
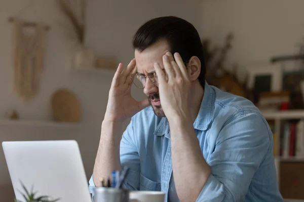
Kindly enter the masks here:
[[2, 143], [14, 192], [23, 201], [25, 190], [58, 202], [92, 202], [75, 140], [6, 141]]

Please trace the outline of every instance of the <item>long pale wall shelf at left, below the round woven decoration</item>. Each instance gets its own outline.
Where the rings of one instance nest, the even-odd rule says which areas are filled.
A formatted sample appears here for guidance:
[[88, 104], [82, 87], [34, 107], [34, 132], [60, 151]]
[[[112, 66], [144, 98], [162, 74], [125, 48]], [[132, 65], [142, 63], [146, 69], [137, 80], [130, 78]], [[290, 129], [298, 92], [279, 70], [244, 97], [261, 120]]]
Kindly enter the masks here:
[[30, 121], [30, 120], [0, 120], [0, 126], [51, 126], [51, 127], [74, 127], [79, 123], [56, 122], [56, 121]]

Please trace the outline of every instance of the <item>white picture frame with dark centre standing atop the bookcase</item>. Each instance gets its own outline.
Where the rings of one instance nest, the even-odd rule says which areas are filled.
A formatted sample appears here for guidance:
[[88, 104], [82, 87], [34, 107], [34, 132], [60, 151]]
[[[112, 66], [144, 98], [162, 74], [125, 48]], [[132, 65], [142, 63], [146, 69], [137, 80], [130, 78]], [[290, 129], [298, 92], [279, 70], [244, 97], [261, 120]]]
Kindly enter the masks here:
[[282, 90], [283, 67], [281, 64], [251, 66], [247, 68], [247, 71], [249, 73], [247, 82], [249, 89], [255, 89], [259, 92], [279, 92]]

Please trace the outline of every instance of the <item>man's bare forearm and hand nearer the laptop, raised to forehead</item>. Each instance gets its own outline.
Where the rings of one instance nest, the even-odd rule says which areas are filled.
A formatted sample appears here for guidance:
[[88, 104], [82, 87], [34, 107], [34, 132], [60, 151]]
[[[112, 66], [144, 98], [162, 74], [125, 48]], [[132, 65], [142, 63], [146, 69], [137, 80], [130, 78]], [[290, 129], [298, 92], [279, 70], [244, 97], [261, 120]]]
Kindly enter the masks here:
[[100, 178], [106, 179], [111, 176], [113, 170], [121, 170], [121, 138], [118, 137], [122, 135], [122, 122], [149, 106], [147, 99], [138, 102], [131, 96], [130, 76], [136, 71], [133, 59], [124, 71], [123, 65], [119, 64], [113, 77], [93, 171], [96, 186], [101, 186]]

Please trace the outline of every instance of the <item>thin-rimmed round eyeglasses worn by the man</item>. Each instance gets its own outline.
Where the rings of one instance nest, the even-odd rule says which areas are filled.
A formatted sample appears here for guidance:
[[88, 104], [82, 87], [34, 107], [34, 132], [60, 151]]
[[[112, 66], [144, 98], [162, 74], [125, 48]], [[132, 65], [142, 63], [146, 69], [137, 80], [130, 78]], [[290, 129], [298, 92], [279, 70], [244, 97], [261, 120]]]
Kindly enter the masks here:
[[[186, 65], [188, 61], [189, 60], [184, 62], [184, 64]], [[165, 69], [163, 69], [163, 71], [165, 72]], [[165, 72], [165, 74], [166, 74], [166, 72]], [[148, 73], [147, 75], [143, 75], [143, 74], [140, 74], [140, 73], [135, 73], [135, 74], [132, 74], [130, 77], [131, 77], [134, 85], [136, 87], [140, 88], [140, 89], [143, 89], [145, 87], [147, 77], [150, 79], [151, 83], [153, 83], [157, 87], [159, 86], [158, 77], [157, 77], [156, 72], [151, 72], [151, 73]]]

